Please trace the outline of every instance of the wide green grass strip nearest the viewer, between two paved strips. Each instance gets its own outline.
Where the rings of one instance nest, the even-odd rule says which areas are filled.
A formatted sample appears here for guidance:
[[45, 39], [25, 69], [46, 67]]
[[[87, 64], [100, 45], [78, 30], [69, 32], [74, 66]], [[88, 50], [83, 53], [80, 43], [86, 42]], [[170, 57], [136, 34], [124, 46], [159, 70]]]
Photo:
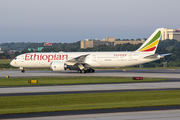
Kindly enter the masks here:
[[180, 90], [0, 97], [0, 114], [180, 105]]

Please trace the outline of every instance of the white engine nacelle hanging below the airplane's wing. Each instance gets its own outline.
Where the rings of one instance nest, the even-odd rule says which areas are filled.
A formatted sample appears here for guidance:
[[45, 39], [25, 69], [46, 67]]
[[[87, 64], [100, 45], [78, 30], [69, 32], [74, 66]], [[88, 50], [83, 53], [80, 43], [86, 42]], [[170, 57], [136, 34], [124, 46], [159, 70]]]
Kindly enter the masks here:
[[67, 65], [64, 64], [63, 62], [54, 61], [54, 62], [51, 62], [50, 68], [52, 71], [64, 71], [66, 70]]

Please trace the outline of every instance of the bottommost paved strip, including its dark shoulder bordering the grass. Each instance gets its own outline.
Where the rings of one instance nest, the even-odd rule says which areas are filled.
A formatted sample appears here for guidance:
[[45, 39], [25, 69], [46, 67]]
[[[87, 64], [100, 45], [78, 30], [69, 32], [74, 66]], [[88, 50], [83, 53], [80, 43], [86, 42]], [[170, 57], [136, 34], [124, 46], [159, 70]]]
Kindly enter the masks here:
[[179, 120], [180, 106], [1, 115], [13, 120]]

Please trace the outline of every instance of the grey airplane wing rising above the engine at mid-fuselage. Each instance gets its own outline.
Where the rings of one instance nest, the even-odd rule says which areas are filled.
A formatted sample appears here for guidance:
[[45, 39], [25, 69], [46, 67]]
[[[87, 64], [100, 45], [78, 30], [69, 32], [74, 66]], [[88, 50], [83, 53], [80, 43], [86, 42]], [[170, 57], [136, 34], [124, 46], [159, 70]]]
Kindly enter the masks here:
[[89, 54], [78, 56], [78, 57], [76, 57], [76, 58], [67, 60], [65, 63], [66, 63], [67, 65], [82, 64], [82, 63], [84, 63], [84, 60], [85, 60], [85, 58], [86, 58], [88, 55], [89, 55]]

